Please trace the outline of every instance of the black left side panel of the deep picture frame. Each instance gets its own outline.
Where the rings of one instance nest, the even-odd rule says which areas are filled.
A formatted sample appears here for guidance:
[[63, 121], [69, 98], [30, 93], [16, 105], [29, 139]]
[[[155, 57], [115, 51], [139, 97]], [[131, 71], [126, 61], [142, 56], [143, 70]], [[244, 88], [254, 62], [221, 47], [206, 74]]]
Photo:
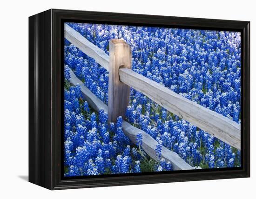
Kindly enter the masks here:
[[51, 15], [29, 17], [29, 182], [52, 189]]

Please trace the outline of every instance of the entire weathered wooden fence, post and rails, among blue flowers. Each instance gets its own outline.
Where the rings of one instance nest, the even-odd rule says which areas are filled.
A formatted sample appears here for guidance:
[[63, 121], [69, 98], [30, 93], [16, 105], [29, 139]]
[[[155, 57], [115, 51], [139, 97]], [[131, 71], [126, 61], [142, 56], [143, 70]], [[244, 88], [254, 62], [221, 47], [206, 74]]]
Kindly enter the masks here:
[[[240, 149], [241, 133], [239, 124], [132, 71], [132, 53], [130, 46], [125, 41], [110, 40], [110, 55], [108, 56], [103, 50], [89, 42], [67, 24], [64, 25], [64, 37], [74, 44], [74, 46], [78, 47], [83, 53], [92, 57], [109, 72], [107, 107], [100, 99], [91, 93], [77, 77], [75, 77], [72, 71], [70, 71], [72, 74], [71, 83], [73, 85], [81, 85], [83, 97], [94, 110], [99, 111], [99, 108], [102, 107], [106, 112], [108, 111], [109, 122], [114, 122], [118, 116], [125, 118], [124, 114], [129, 102], [129, 90], [130, 87], [133, 87], [135, 90], [143, 93], [149, 99], [152, 99], [168, 111], [191, 122], [223, 142]], [[126, 121], [124, 121], [122, 125], [124, 133], [134, 143], [136, 143], [136, 134], [142, 132], [143, 149], [149, 156], [156, 159], [155, 148], [157, 142], [155, 139]], [[171, 161], [175, 170], [193, 168], [176, 153], [169, 151], [165, 147], [163, 147], [162, 153], [163, 158]]]

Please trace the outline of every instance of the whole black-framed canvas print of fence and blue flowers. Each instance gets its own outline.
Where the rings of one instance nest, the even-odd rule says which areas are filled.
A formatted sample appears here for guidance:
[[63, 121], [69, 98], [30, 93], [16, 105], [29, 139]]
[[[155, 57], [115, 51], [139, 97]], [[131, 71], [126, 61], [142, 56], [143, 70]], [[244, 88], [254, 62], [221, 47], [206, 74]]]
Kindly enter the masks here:
[[29, 181], [249, 177], [249, 22], [51, 9], [29, 17]]

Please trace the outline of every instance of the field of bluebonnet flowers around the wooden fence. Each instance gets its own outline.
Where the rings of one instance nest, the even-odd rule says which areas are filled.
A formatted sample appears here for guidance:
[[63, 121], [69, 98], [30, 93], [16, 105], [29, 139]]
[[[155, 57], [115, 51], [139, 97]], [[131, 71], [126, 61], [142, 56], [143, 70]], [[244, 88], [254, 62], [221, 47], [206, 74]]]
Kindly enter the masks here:
[[[241, 49], [239, 32], [68, 23], [109, 54], [109, 40], [123, 39], [132, 48], [132, 70], [175, 93], [240, 123]], [[159, 160], [124, 135], [122, 118], [88, 106], [80, 86], [70, 86], [71, 68], [108, 105], [108, 72], [65, 39], [65, 176], [171, 171], [161, 159], [162, 146], [195, 169], [240, 166], [240, 150], [166, 111], [131, 88], [127, 120], [155, 140]]]

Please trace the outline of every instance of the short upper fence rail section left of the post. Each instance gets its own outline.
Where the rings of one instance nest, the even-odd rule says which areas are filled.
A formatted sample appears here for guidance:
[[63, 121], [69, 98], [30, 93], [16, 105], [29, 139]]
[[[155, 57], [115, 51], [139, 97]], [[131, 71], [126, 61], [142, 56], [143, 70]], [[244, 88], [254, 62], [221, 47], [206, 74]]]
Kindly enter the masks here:
[[108, 71], [109, 56], [66, 23], [64, 23], [64, 37]]

